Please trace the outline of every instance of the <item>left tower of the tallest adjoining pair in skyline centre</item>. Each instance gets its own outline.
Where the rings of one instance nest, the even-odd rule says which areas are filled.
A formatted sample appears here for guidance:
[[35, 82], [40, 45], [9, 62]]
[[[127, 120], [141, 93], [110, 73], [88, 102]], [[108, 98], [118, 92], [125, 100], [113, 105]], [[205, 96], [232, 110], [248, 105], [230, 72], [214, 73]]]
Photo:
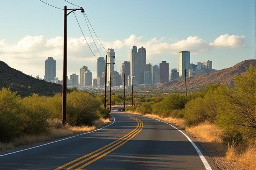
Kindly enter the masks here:
[[[138, 57], [137, 47], [134, 45], [131, 49], [131, 66], [130, 74], [132, 77], [132, 82], [140, 82], [140, 58]], [[133, 85], [131, 83], [131, 85]]]

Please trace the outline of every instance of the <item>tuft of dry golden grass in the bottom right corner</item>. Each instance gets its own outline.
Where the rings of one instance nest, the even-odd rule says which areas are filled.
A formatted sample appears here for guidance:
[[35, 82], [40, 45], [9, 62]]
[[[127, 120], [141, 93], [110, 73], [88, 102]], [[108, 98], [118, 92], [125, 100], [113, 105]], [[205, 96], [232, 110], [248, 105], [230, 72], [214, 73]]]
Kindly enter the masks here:
[[243, 164], [248, 170], [256, 170], [256, 146], [251, 145], [238, 156], [239, 164]]

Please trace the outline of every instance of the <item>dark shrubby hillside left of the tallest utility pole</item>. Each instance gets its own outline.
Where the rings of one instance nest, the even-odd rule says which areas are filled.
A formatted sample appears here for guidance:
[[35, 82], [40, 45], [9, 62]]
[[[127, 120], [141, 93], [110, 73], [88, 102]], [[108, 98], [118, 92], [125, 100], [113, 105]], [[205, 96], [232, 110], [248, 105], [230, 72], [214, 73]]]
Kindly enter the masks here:
[[62, 92], [61, 85], [28, 76], [0, 61], [0, 89], [3, 87], [17, 91], [20, 96], [29, 96], [32, 93], [51, 96]]

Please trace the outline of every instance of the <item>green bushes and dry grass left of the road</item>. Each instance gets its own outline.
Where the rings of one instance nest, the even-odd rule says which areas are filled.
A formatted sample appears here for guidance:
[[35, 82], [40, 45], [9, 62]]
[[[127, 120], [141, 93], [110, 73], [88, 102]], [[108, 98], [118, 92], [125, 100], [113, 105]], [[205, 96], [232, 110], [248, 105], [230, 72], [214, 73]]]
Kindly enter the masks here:
[[95, 96], [84, 91], [67, 94], [67, 124], [61, 123], [61, 94], [21, 98], [17, 92], [0, 91], [0, 150], [43, 142], [85, 131], [110, 122], [110, 113]]

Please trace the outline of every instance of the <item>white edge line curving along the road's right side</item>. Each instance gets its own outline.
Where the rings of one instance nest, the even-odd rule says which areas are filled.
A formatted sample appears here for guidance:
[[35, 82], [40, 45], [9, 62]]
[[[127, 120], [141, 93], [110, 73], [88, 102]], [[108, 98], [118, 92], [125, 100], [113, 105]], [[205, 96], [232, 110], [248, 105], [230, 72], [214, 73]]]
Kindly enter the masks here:
[[[141, 116], [144, 116], [144, 115], [141, 115]], [[145, 116], [145, 117], [148, 117], [148, 116]], [[148, 117], [148, 118], [151, 118], [151, 119], [155, 119], [155, 118], [152, 118], [152, 117]], [[158, 119], [155, 119], [155, 120], [158, 120]], [[174, 127], [176, 130], [179, 130], [177, 129], [177, 127], [167, 123], [167, 122], [164, 122], [162, 120], [158, 120], [160, 122], [163, 122], [163, 123], [166, 123], [167, 125], [170, 125], [172, 127]], [[203, 153], [201, 152], [201, 150], [196, 146], [196, 144], [189, 138], [189, 136], [187, 136], [183, 131], [179, 130], [188, 140], [189, 142], [192, 144], [192, 146], [195, 148], [196, 152], [198, 153], [200, 159], [202, 160], [203, 164], [204, 164], [204, 167], [207, 169], [207, 170], [212, 170], [212, 168], [210, 167], [210, 165], [208, 164], [207, 160], [204, 158], [204, 155]]]

